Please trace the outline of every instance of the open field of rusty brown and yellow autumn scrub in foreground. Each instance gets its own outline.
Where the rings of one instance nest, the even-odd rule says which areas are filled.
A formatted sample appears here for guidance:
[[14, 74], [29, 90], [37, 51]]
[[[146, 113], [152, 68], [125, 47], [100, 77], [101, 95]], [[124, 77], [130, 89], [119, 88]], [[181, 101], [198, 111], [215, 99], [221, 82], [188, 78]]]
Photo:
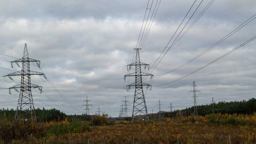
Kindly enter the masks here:
[[[97, 126], [99, 125], [99, 126]], [[2, 143], [13, 144], [253, 144], [256, 114], [206, 115], [162, 121], [92, 121], [26, 124], [2, 120]]]

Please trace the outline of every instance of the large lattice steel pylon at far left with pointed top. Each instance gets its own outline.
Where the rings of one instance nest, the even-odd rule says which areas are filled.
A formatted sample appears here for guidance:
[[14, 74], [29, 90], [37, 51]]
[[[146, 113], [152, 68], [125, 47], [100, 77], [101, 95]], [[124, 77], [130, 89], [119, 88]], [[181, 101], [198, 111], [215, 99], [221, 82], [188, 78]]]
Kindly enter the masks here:
[[[17, 89], [20, 89], [20, 95], [19, 95], [18, 105], [16, 109], [15, 120], [37, 121], [31, 89], [38, 88], [42, 93], [42, 86], [38, 86], [31, 83], [30, 76], [32, 75], [44, 76], [44, 73], [40, 73], [37, 71], [30, 71], [30, 62], [35, 62], [36, 66], [40, 68], [40, 61], [29, 58], [29, 53], [27, 51], [27, 44], [25, 44], [22, 58], [17, 59], [15, 61], [11, 61], [12, 68], [13, 68], [13, 65], [12, 65], [13, 63], [17, 64], [19, 67], [20, 67], [19, 63], [21, 63], [21, 71], [16, 71], [14, 73], [10, 73], [4, 76], [4, 77], [9, 77], [10, 79], [12, 79], [11, 76], [21, 76], [21, 82], [9, 88], [10, 94], [11, 94], [11, 89], [14, 89], [17, 92], [18, 92]], [[44, 76], [44, 78], [46, 79], [46, 76]]]

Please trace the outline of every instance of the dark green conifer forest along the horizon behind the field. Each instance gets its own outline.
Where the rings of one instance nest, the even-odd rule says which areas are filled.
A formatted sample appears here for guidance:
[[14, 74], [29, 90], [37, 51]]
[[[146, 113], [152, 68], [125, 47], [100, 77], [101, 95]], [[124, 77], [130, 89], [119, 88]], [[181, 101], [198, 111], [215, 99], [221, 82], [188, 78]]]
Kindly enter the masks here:
[[[213, 110], [213, 111], [212, 111]], [[218, 102], [213, 104], [206, 104], [197, 106], [198, 115], [207, 115], [214, 113], [221, 114], [253, 114], [256, 112], [256, 99], [252, 98], [249, 100], [234, 101], [234, 102]], [[57, 109], [36, 109], [36, 116], [38, 122], [43, 121], [62, 121], [68, 118], [69, 121], [81, 121], [81, 120], [91, 120], [90, 115], [66, 115], [65, 113]], [[173, 112], [161, 111], [161, 118], [165, 117], [181, 117], [193, 115], [194, 107], [175, 110]], [[155, 114], [148, 114], [150, 119], [158, 119], [159, 112]], [[14, 120], [15, 110], [14, 109], [0, 109], [0, 119], [6, 118], [7, 120]], [[126, 118], [125, 120], [130, 120], [131, 118]], [[124, 118], [112, 118], [112, 120], [124, 120]]]

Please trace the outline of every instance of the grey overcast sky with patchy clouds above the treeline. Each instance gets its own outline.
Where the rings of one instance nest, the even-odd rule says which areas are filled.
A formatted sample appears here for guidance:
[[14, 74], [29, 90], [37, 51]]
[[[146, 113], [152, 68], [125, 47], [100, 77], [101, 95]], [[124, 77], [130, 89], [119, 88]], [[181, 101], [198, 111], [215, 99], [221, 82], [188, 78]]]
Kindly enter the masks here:
[[[21, 58], [24, 43], [27, 43], [30, 58], [40, 60], [43, 68], [42, 71], [31, 64], [31, 70], [44, 72], [61, 94], [76, 105], [70, 106], [50, 83], [33, 76], [32, 83], [43, 86], [44, 92], [56, 100], [56, 105], [61, 109], [45, 94], [33, 90], [35, 108], [52, 106], [67, 114], [82, 114], [81, 105], [88, 96], [93, 105], [91, 114], [99, 106], [102, 111], [117, 117], [123, 96], [127, 95], [129, 104], [133, 105], [134, 89], [126, 92], [124, 86], [132, 83], [134, 77], [124, 82], [123, 75], [127, 73], [126, 65], [133, 58], [147, 2], [148, 0], [2, 0], [0, 53]], [[141, 62], [152, 64], [157, 59], [193, 2], [194, 0], [161, 1], [145, 45], [140, 51]], [[195, 3], [192, 11], [200, 2], [198, 0]], [[209, 2], [210, 0], [202, 2], [188, 25]], [[184, 64], [255, 13], [255, 0], [215, 0], [180, 42], [165, 55], [152, 74], [159, 75]], [[191, 14], [192, 12], [189, 16]], [[184, 79], [154, 87], [206, 65], [254, 35], [256, 20], [189, 65], [163, 76], [155, 76], [152, 81], [146, 79], [153, 86], [151, 91], [145, 89], [148, 111], [158, 111], [158, 99], [162, 101], [164, 111], [169, 110], [170, 102], [174, 109], [192, 106], [192, 93], [188, 91], [192, 90], [194, 80], [201, 91], [197, 93], [198, 105], [210, 103], [212, 97], [216, 102], [255, 97], [256, 92], [251, 91], [255, 90], [256, 83], [236, 88], [227, 87], [256, 82], [256, 41]], [[15, 60], [3, 55], [0, 55], [0, 59]], [[11, 69], [8, 62], [0, 61], [0, 64], [0, 75], [13, 72], [2, 69]], [[134, 69], [131, 70], [133, 71]], [[20, 77], [13, 78], [20, 82]], [[1, 88], [16, 84], [9, 83], [9, 79], [6, 81], [1, 79]], [[0, 108], [16, 109], [19, 94], [15, 91], [12, 94], [9, 95], [5, 89], [0, 91]], [[129, 115], [131, 112], [132, 107]]]

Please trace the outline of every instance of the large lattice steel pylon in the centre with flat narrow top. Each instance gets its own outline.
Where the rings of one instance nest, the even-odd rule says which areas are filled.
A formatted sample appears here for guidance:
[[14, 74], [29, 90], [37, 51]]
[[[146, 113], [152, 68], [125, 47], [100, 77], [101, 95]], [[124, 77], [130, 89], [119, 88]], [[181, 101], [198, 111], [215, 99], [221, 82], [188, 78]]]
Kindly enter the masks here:
[[[145, 96], [144, 96], [144, 92], [143, 92], [143, 86], [146, 86], [147, 88], [149, 88], [149, 86], [150, 86], [150, 89], [151, 89], [151, 85], [148, 83], [142, 82], [142, 76], [151, 76], [151, 79], [153, 77], [153, 74], [141, 72], [141, 66], [143, 65], [145, 68], [148, 66], [148, 69], [149, 69], [149, 64], [140, 62], [140, 54], [139, 54], [140, 49], [134, 49], [134, 50], [136, 51], [135, 62], [127, 65], [127, 70], [129, 71], [132, 66], [135, 66], [135, 73], [129, 73], [124, 76], [124, 79], [127, 76], [135, 76], [135, 82], [131, 83], [130, 85], [126, 85], [127, 91], [131, 87], [135, 87], [134, 101], [133, 101], [133, 114], [131, 117], [132, 123], [133, 123], [134, 119], [137, 119], [137, 120], [146, 119], [149, 121], [148, 110], [146, 107], [146, 101], [145, 101]], [[138, 116], [135, 117], [139, 112], [144, 114], [144, 118], [141, 117], [141, 115], [140, 115], [140, 117], [138, 117]]]

